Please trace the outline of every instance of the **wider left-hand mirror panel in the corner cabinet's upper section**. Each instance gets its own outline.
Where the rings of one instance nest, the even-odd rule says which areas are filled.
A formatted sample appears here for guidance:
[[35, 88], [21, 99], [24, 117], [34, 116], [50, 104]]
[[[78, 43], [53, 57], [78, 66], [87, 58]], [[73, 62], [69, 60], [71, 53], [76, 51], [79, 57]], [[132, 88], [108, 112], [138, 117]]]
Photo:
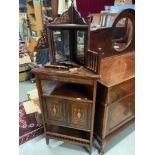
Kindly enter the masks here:
[[56, 30], [52, 32], [54, 40], [55, 62], [65, 61], [70, 59], [69, 49], [69, 31]]

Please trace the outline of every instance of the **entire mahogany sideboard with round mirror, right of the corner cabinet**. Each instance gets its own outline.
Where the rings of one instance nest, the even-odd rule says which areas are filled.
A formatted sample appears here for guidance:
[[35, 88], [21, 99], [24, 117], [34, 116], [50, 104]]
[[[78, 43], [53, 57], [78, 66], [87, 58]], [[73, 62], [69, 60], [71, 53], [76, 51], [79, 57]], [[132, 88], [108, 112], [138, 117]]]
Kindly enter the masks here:
[[104, 27], [88, 31], [87, 68], [100, 75], [94, 125], [100, 155], [106, 143], [135, 117], [135, 10], [114, 14]]

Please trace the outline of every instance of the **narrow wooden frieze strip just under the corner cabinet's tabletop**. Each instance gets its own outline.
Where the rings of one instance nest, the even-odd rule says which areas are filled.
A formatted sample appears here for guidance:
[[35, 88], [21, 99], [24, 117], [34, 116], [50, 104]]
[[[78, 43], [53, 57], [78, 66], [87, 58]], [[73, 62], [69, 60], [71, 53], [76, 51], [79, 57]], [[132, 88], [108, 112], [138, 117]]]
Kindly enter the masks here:
[[42, 75], [39, 74], [37, 75], [38, 79], [42, 79], [42, 80], [54, 80], [54, 81], [62, 81], [62, 82], [69, 82], [69, 83], [79, 83], [79, 84], [88, 84], [88, 85], [92, 85], [93, 84], [93, 80], [91, 79], [82, 79], [82, 78], [74, 78], [74, 77], [60, 77], [57, 75]]

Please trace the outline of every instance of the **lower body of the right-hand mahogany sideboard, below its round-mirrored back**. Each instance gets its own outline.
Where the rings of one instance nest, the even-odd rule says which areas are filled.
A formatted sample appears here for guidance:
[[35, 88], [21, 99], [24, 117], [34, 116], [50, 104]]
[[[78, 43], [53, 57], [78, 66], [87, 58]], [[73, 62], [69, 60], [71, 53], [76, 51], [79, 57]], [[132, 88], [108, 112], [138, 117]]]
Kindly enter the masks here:
[[97, 84], [94, 135], [100, 155], [106, 143], [135, 117], [134, 53], [114, 56], [102, 63]]

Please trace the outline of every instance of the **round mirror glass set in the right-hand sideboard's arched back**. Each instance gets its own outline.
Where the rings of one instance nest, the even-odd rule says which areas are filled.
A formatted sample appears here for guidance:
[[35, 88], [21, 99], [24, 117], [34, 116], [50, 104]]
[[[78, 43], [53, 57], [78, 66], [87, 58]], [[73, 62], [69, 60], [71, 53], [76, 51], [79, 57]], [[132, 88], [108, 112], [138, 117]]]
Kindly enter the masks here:
[[131, 43], [133, 37], [133, 23], [130, 18], [121, 18], [112, 32], [112, 45], [116, 51], [125, 50]]

